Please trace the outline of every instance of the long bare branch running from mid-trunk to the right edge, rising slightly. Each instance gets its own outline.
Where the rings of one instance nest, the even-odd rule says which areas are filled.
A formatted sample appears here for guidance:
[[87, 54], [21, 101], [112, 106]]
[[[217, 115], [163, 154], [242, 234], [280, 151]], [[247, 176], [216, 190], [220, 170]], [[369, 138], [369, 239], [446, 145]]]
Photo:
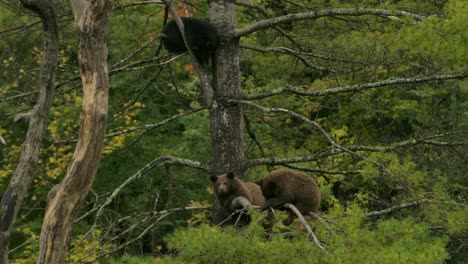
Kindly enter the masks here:
[[387, 80], [380, 81], [380, 82], [358, 84], [358, 85], [353, 85], [353, 86], [336, 87], [336, 88], [318, 90], [318, 91], [309, 91], [309, 90], [304, 90], [302, 88], [287, 85], [282, 88], [274, 89], [270, 92], [247, 95], [247, 99], [259, 100], [259, 99], [264, 99], [264, 98], [282, 94], [282, 93], [293, 93], [297, 95], [319, 97], [319, 96], [327, 96], [327, 95], [332, 95], [332, 94], [359, 92], [359, 91], [367, 90], [371, 88], [385, 87], [385, 86], [398, 85], [398, 84], [414, 84], [414, 83], [423, 83], [423, 82], [430, 82], [430, 81], [464, 79], [467, 77], [468, 77], [468, 73], [456, 73], [456, 74], [432, 75], [432, 76], [412, 77], [412, 78], [389, 78]]

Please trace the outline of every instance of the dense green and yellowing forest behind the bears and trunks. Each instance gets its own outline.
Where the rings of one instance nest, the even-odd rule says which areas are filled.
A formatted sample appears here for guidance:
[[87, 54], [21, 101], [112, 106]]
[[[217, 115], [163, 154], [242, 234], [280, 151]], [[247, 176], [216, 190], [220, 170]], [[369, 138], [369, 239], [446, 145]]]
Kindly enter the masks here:
[[[294, 238], [267, 241], [258, 212], [240, 231], [213, 223], [209, 175], [226, 153], [214, 151], [223, 143], [213, 141], [215, 121], [202, 103], [197, 69], [189, 56], [174, 58], [160, 47], [162, 2], [116, 1], [105, 147], [66, 262], [466, 263], [468, 2], [231, 4], [245, 96], [226, 99], [215, 91], [214, 98], [226, 108], [241, 105], [233, 108], [244, 119], [248, 162], [241, 176], [255, 181], [282, 167], [311, 175], [322, 193], [321, 218], [311, 225], [326, 250], [299, 224], [275, 226]], [[47, 194], [66, 174], [80, 126], [73, 15], [68, 1], [55, 6], [55, 97], [11, 235], [12, 263], [37, 259]], [[214, 15], [206, 1], [176, 7], [180, 16]], [[294, 17], [304, 12], [323, 13]], [[19, 1], [0, 2], [0, 21], [3, 194], [28, 128], [15, 116], [38, 95], [43, 31]]]

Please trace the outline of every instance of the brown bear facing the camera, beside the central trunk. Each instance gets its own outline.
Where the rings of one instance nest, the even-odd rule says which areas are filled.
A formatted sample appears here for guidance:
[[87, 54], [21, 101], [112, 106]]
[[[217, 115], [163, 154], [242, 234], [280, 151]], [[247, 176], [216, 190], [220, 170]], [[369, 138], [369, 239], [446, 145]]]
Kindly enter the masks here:
[[231, 203], [238, 196], [243, 196], [252, 205], [262, 206], [265, 203], [260, 186], [253, 182], [244, 182], [235, 177], [232, 172], [219, 176], [213, 175], [211, 176], [211, 181], [213, 182], [216, 200], [229, 213], [235, 211], [231, 208]]

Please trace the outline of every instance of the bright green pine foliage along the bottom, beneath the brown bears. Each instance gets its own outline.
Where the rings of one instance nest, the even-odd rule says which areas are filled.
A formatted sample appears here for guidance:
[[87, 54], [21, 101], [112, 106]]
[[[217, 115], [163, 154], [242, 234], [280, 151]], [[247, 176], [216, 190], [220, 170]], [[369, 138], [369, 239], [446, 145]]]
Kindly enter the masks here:
[[175, 231], [166, 239], [174, 257], [148, 263], [442, 263], [448, 259], [447, 239], [432, 237], [428, 225], [411, 218], [367, 223], [358, 207], [335, 208], [329, 215], [340, 215], [335, 219], [336, 232], [330, 237], [324, 226], [316, 229], [329, 253], [294, 228], [293, 239], [278, 234], [266, 240], [256, 223], [241, 231], [203, 225]]

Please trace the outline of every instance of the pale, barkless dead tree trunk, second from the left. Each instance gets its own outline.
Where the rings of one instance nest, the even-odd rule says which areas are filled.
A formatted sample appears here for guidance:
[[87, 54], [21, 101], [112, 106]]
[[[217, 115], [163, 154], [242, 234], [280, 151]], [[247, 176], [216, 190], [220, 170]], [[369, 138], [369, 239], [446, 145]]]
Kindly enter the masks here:
[[79, 139], [65, 178], [48, 195], [37, 263], [64, 263], [73, 221], [94, 181], [102, 154], [109, 76], [107, 25], [111, 0], [70, 1], [79, 42], [83, 84]]

